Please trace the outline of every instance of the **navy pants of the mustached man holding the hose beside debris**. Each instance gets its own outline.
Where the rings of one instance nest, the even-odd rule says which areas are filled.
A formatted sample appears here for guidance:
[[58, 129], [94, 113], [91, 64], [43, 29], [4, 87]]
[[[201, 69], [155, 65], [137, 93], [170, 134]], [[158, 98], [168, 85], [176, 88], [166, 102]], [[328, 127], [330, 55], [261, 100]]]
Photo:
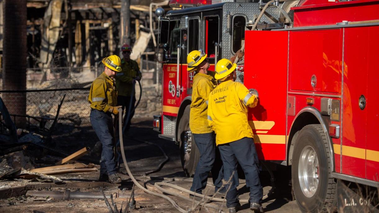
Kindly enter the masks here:
[[100, 175], [115, 174], [116, 161], [114, 160], [113, 152], [113, 119], [110, 113], [104, 113], [99, 110], [91, 109], [91, 114], [89, 115], [92, 128], [95, 130], [97, 137], [101, 141], [103, 150], [101, 152], [100, 160]]

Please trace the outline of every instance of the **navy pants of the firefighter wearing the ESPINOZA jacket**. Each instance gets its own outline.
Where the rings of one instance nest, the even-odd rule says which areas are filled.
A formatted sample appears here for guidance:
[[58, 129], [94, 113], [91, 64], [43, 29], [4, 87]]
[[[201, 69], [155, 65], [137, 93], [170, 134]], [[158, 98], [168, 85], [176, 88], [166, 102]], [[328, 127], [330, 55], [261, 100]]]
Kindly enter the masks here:
[[[226, 206], [228, 208], [238, 205], [237, 163], [240, 163], [246, 177], [246, 187], [250, 190], [249, 202], [262, 203], [263, 189], [259, 180], [258, 155], [252, 138], [242, 138], [227, 144], [218, 146], [222, 163], [224, 165], [224, 180], [232, 176], [230, 190], [226, 194]], [[234, 173], [233, 173], [234, 172]], [[229, 184], [225, 186], [228, 188]]]

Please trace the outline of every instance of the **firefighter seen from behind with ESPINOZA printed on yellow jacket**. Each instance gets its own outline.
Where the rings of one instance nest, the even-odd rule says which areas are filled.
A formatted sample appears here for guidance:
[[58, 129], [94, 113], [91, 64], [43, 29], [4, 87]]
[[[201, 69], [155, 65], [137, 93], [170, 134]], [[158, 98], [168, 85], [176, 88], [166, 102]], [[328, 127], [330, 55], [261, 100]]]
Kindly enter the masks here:
[[258, 155], [253, 132], [247, 121], [247, 107], [257, 106], [258, 97], [251, 94], [243, 84], [235, 82], [235, 69], [236, 64], [225, 58], [218, 61], [215, 78], [221, 83], [209, 95], [208, 123], [216, 133], [216, 144], [224, 166], [224, 180], [232, 177], [229, 183], [231, 186], [225, 186], [230, 186], [226, 194], [229, 213], [235, 213], [240, 206], [237, 200], [238, 163], [250, 190], [250, 209], [262, 212], [263, 190], [258, 177]]

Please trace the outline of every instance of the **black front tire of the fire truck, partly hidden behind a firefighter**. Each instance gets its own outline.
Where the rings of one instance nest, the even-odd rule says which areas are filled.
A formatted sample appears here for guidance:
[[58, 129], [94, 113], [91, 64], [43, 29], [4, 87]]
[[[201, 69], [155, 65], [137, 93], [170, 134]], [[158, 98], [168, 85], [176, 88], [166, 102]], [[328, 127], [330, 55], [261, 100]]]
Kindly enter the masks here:
[[190, 110], [190, 106], [188, 105], [185, 108], [183, 112], [183, 116], [181, 117], [179, 121], [177, 138], [179, 139], [180, 160], [182, 161], [183, 171], [188, 177], [192, 177], [195, 174], [197, 162], [199, 162], [200, 153], [199, 153], [199, 149], [196, 146], [196, 143], [192, 134], [191, 134], [191, 151], [189, 153], [185, 152], [185, 147], [184, 147], [185, 135], [187, 131], [190, 131], [189, 110]]

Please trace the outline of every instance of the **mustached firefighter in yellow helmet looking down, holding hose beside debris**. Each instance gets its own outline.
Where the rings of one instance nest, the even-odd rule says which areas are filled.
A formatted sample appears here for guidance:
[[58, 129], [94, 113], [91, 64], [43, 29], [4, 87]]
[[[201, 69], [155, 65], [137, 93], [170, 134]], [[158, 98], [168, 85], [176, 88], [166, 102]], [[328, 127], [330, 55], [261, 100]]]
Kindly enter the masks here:
[[116, 117], [121, 107], [117, 106], [117, 90], [113, 84], [114, 75], [121, 72], [121, 60], [119, 56], [111, 55], [103, 58], [102, 63], [104, 72], [92, 82], [89, 90], [88, 102], [91, 103], [89, 119], [103, 147], [99, 181], [121, 183], [114, 159], [112, 120], [112, 114]]

